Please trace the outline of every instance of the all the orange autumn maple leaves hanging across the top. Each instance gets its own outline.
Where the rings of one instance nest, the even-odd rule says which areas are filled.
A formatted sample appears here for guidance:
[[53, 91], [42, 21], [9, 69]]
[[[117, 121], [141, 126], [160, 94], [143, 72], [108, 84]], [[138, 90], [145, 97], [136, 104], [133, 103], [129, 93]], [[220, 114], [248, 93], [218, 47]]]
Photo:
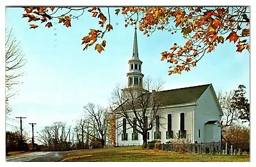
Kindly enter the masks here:
[[[105, 8], [105, 14], [99, 7], [28, 7], [24, 8], [26, 13], [23, 17], [28, 17], [28, 22], [46, 22], [45, 27], [52, 27], [50, 20], [58, 18], [59, 23], [66, 27], [71, 26], [71, 19], [68, 13], [62, 13], [60, 17], [54, 14], [62, 8], [72, 10], [86, 9], [93, 18], [99, 19], [99, 29], [90, 29], [87, 36], [82, 38], [83, 50], [95, 45], [95, 50], [101, 53], [106, 47], [104, 34], [113, 30], [110, 22], [109, 7]], [[88, 8], [88, 9], [87, 9]], [[138, 24], [138, 29], [143, 34], [150, 36], [156, 30], [168, 31], [170, 34], [180, 32], [186, 39], [185, 45], [174, 45], [170, 51], [164, 50], [161, 53], [161, 61], [167, 61], [174, 66], [170, 66], [168, 74], [179, 73], [183, 70], [189, 71], [191, 67], [204, 57], [205, 53], [210, 53], [220, 43], [225, 41], [236, 44], [236, 52], [243, 52], [244, 48], [250, 52], [250, 11], [248, 7], [122, 7], [115, 9], [115, 15], [124, 15], [125, 27]], [[59, 10], [60, 11], [60, 10]], [[107, 12], [108, 11], [108, 12]], [[51, 14], [50, 14], [51, 12]], [[108, 18], [107, 18], [107, 17]], [[77, 17], [76, 17], [77, 18]], [[30, 24], [31, 29], [38, 25]], [[101, 40], [99, 43], [96, 43]]]

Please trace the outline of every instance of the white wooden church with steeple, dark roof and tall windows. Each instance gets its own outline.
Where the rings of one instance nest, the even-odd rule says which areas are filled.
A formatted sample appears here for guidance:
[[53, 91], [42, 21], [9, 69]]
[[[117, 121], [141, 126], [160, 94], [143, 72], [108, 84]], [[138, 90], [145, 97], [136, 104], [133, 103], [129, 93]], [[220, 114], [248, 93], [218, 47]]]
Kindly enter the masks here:
[[[142, 61], [138, 56], [138, 41], [135, 28], [132, 58], [128, 62], [128, 88], [143, 87]], [[125, 90], [123, 90], [125, 91]], [[220, 119], [223, 112], [218, 103], [212, 84], [182, 87], [157, 92], [164, 103], [159, 107], [155, 126], [147, 133], [147, 141], [170, 142], [182, 138], [188, 143], [219, 142], [221, 140]], [[131, 112], [132, 113], [132, 112]], [[118, 145], [143, 144], [140, 133], [134, 137], [134, 129], [129, 127], [124, 117], [116, 115], [116, 143]], [[161, 118], [161, 119], [160, 119]], [[160, 126], [161, 124], [161, 126]]]

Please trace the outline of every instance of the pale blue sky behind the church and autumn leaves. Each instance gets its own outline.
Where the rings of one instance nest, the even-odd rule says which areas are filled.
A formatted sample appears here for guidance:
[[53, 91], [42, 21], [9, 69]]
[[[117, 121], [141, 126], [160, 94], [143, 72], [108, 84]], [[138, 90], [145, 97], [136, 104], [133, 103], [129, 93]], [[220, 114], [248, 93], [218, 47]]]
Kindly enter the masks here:
[[[111, 9], [115, 13], [115, 9]], [[97, 19], [84, 15], [72, 20], [72, 27], [55, 24], [29, 29], [28, 18], [22, 18], [22, 8], [6, 8], [5, 24], [12, 27], [20, 41], [25, 59], [23, 82], [15, 87], [19, 95], [13, 97], [10, 118], [24, 119], [24, 130], [31, 131], [29, 122], [36, 122], [35, 131], [52, 122], [74, 124], [84, 112], [87, 103], [108, 106], [116, 84], [127, 83], [128, 61], [132, 56], [134, 27], [124, 27], [124, 18], [111, 15], [113, 31], [107, 33], [105, 51], [99, 54], [94, 47], [83, 51], [81, 38], [90, 28], [96, 28]], [[160, 61], [161, 52], [173, 43], [182, 44], [182, 34], [171, 35], [156, 31], [149, 38], [138, 31], [138, 50], [142, 73], [161, 78], [164, 90], [212, 83], [214, 90], [230, 91], [239, 84], [246, 86], [250, 98], [250, 54], [236, 52], [234, 43], [225, 43], [206, 54], [195, 68], [182, 75], [168, 75], [168, 64]], [[18, 119], [17, 119], [18, 120]], [[8, 120], [7, 120], [8, 121]], [[19, 122], [8, 124], [19, 127]], [[6, 129], [12, 129], [6, 126]], [[29, 132], [30, 134], [30, 132]]]

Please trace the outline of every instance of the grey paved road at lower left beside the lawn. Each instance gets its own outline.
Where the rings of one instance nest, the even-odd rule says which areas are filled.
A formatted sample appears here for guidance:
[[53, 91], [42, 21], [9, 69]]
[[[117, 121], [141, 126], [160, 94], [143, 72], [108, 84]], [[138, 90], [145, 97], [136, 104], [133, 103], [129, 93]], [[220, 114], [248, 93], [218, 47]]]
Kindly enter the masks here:
[[[76, 150], [77, 151], [77, 150]], [[59, 162], [64, 159], [69, 152], [31, 152], [17, 156], [6, 157], [7, 162]]]

